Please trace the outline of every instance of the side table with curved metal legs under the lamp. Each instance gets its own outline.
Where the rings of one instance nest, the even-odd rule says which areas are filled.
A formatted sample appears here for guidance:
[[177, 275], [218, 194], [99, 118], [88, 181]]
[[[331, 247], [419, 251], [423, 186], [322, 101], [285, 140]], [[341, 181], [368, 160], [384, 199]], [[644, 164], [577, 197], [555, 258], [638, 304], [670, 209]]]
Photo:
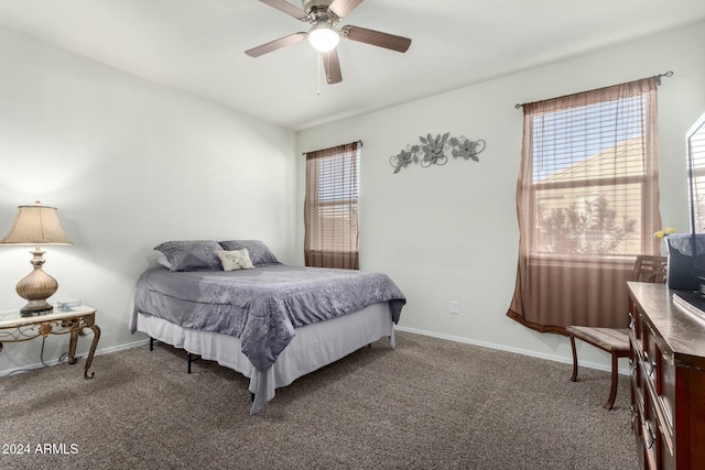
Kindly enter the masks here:
[[96, 325], [96, 309], [82, 305], [67, 310], [54, 308], [45, 315], [32, 317], [20, 316], [20, 310], [0, 311], [0, 351], [3, 342], [29, 341], [34, 338], [46, 338], [50, 335], [70, 335], [68, 342], [68, 363], [75, 364], [76, 342], [84, 335], [84, 328], [93, 330], [93, 342], [86, 358], [84, 378], [91, 379], [95, 372], [88, 373], [93, 357], [96, 353], [100, 328]]

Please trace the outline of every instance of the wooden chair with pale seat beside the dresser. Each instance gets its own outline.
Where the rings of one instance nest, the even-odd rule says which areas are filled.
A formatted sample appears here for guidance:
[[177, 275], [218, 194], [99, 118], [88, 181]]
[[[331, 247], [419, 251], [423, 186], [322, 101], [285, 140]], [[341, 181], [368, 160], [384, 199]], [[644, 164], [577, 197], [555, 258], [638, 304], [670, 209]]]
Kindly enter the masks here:
[[[630, 281], [636, 282], [665, 282], [666, 272], [665, 256], [637, 256], [634, 269], [631, 273]], [[575, 338], [593, 345], [612, 357], [612, 380], [609, 390], [609, 398], [605, 403], [605, 408], [611, 409], [617, 397], [617, 382], [619, 378], [618, 362], [619, 358], [629, 356], [629, 328], [595, 328], [571, 325], [565, 328], [571, 338], [571, 349], [573, 351], [573, 376], [572, 382], [577, 381], [577, 352], [575, 350]]]

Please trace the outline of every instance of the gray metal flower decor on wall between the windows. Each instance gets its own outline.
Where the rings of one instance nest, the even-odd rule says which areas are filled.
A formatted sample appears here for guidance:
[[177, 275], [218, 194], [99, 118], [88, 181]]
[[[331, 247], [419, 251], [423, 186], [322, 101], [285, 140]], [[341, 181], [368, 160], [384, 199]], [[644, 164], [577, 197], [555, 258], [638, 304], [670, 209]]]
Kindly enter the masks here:
[[410, 163], [420, 164], [427, 168], [431, 165], [445, 165], [448, 163], [448, 155], [454, 159], [471, 160], [479, 162], [477, 154], [485, 150], [485, 141], [479, 139], [471, 141], [465, 135], [452, 138], [449, 132], [436, 135], [435, 138], [427, 134], [425, 138], [419, 138], [421, 144], [406, 145], [397, 155], [389, 157], [389, 163], [394, 168], [394, 173], [399, 173], [401, 168], [405, 168]]

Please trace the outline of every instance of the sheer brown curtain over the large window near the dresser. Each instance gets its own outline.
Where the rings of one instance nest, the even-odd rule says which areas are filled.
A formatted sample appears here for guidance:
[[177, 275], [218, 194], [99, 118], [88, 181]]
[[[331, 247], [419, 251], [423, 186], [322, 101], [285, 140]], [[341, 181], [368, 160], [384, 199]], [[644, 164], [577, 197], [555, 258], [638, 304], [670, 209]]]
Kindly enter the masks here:
[[626, 327], [636, 255], [659, 254], [657, 78], [523, 111], [520, 252], [507, 315], [542, 332]]

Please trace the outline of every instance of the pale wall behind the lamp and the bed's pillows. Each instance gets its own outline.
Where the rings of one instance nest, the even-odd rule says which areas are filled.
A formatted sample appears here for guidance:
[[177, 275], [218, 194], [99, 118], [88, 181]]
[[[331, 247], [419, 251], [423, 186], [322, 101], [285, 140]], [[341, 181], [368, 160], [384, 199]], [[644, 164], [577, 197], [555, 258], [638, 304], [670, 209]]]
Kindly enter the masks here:
[[[98, 308], [99, 350], [131, 336], [139, 274], [171, 239], [257, 238], [293, 262], [296, 135], [0, 29], [0, 237], [17, 206], [58, 207], [73, 247], [46, 247], [56, 302]], [[24, 299], [29, 247], [0, 247], [0, 310]], [[85, 352], [88, 339], [79, 339]], [[50, 337], [44, 360], [66, 351]], [[6, 343], [0, 373], [40, 362]], [[98, 368], [99, 361], [94, 362]], [[78, 370], [76, 373], [78, 374]]]

